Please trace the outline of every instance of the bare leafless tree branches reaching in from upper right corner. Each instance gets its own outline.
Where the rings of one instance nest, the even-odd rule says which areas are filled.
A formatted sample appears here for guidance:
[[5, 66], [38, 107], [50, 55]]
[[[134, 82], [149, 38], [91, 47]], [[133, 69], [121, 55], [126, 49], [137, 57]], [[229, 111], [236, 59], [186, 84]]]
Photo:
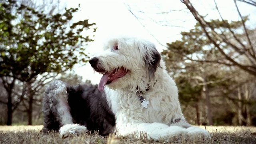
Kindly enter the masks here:
[[[242, 2], [249, 3], [250, 5], [256, 6], [256, 2], [252, 0], [241, 0]], [[238, 16], [240, 16], [241, 21], [237, 22], [236, 26], [239, 28], [233, 28], [234, 24], [229, 23], [224, 20], [218, 10], [216, 4], [216, 9], [220, 14], [221, 20], [217, 22], [222, 23], [221, 26], [225, 27], [225, 30], [216, 28], [216, 24], [205, 20], [198, 11], [194, 8], [190, 0], [181, 0], [182, 3], [190, 10], [191, 14], [197, 20], [198, 24], [202, 28], [202, 31], [208, 38], [208, 40], [214, 45], [214, 48], [223, 56], [222, 59], [207, 60], [211, 63], [220, 63], [227, 66], [236, 66], [241, 70], [248, 72], [256, 76], [256, 48], [255, 42], [252, 36], [255, 36], [255, 30], [246, 27], [246, 20], [248, 17], [243, 17], [237, 5], [237, 0], [234, 0]], [[242, 34], [235, 32], [235, 30], [240, 29], [243, 31]], [[229, 48], [228, 52], [225, 51], [226, 47]]]

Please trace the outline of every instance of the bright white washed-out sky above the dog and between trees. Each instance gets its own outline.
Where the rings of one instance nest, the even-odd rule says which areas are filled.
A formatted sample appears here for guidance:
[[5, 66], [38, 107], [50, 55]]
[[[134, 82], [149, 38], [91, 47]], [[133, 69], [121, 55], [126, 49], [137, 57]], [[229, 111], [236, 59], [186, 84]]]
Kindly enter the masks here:
[[[75, 15], [77, 20], [89, 19], [89, 22], [96, 23], [98, 29], [94, 43], [116, 33], [134, 34], [152, 40], [161, 51], [164, 47], [158, 44], [155, 38], [161, 44], [178, 40], [181, 37], [180, 32], [192, 29], [195, 24], [192, 14], [186, 10], [186, 6], [180, 0], [67, 0], [67, 2], [68, 7], [77, 7], [80, 3], [81, 11]], [[220, 18], [218, 12], [214, 10], [214, 0], [191, 0], [191, 2], [201, 15], [207, 15], [212, 19]], [[216, 0], [216, 3], [224, 19], [239, 20], [233, 0]], [[146, 28], [128, 11], [127, 4]], [[243, 15], [250, 15], [249, 25], [255, 26], [256, 8], [238, 4]], [[169, 14], [160, 14], [170, 10], [172, 12]], [[99, 49], [95, 44], [90, 44], [87, 52], [92, 55]], [[83, 76], [84, 81], [88, 79], [93, 84], [98, 84], [102, 76], [95, 73], [89, 63], [86, 66], [76, 66], [74, 71]]]

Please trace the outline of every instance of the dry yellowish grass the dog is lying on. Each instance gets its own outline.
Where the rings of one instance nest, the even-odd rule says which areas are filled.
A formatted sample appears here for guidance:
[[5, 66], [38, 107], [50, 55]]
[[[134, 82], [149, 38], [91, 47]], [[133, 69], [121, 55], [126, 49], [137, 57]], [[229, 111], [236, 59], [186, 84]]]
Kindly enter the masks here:
[[[256, 127], [235, 126], [201, 126], [206, 128], [211, 137], [171, 138], [170, 143], [179, 144], [256, 144]], [[43, 134], [42, 126], [0, 126], [0, 144], [162, 144], [163, 141], [147, 140], [145, 137], [136, 140], [131, 137], [102, 137], [98, 133], [84, 133], [80, 136], [60, 138], [57, 133]]]

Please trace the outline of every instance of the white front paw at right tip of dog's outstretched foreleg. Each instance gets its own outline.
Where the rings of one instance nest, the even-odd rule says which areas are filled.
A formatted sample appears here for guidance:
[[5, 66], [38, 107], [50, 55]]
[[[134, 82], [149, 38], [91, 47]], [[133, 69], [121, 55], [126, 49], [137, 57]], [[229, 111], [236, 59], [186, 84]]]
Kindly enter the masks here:
[[207, 132], [206, 130], [202, 129], [202, 128], [198, 128], [196, 126], [191, 126], [189, 128], [186, 129], [188, 132], [189, 136], [197, 136], [200, 138], [210, 138], [210, 134], [209, 132]]

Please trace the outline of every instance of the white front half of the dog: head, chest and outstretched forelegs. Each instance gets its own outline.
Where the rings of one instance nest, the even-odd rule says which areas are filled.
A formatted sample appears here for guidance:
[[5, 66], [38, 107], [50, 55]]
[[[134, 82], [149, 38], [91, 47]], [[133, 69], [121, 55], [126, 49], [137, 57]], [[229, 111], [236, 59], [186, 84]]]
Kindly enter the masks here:
[[210, 136], [184, 118], [178, 88], [154, 43], [130, 36], [110, 38], [89, 63], [103, 74], [98, 89], [106, 92], [118, 136]]

